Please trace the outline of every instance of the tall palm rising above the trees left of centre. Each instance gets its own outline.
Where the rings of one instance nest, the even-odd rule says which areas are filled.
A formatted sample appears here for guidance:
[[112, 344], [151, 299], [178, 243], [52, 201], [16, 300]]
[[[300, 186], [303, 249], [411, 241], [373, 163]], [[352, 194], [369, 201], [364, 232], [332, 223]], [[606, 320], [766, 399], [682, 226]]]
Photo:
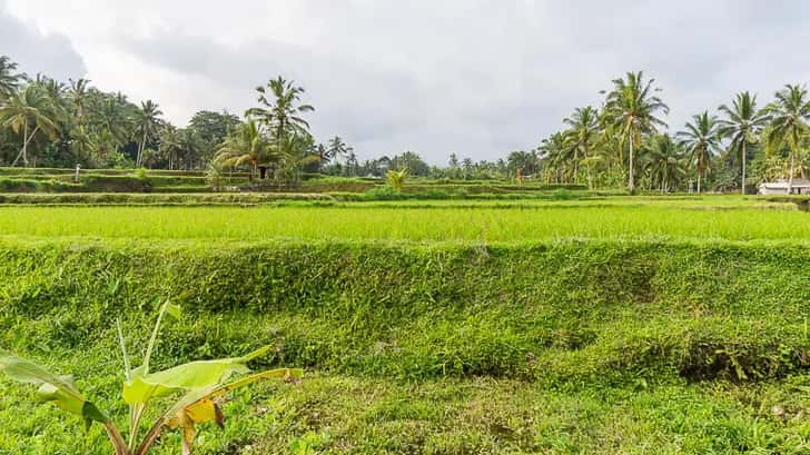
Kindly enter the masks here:
[[279, 76], [270, 79], [266, 87], [257, 87], [258, 101], [263, 107], [251, 108], [246, 112], [248, 117], [256, 118], [270, 128], [276, 147], [284, 144], [288, 133], [309, 131], [309, 123], [302, 118], [302, 115], [312, 112], [315, 108], [299, 103], [305, 90], [294, 83]]

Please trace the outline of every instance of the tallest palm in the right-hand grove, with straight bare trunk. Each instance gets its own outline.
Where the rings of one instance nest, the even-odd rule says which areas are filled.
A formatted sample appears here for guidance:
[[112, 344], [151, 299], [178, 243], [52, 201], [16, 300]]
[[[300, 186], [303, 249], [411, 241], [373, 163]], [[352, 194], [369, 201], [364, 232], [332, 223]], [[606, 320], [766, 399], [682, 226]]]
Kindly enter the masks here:
[[643, 72], [628, 72], [626, 79], [613, 80], [613, 90], [608, 93], [605, 110], [610, 122], [618, 127], [622, 145], [630, 147], [630, 166], [628, 189], [635, 190], [634, 149], [641, 146], [644, 135], [658, 132], [658, 127], [666, 123], [655, 117], [658, 112], [670, 112], [661, 98], [654, 93], [660, 91], [653, 87], [655, 79], [644, 82]]

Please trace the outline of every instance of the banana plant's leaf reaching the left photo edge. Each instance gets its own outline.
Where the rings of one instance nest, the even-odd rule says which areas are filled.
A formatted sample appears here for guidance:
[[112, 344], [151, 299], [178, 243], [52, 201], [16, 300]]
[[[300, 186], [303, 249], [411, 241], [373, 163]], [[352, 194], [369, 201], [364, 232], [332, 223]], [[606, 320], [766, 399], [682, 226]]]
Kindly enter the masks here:
[[45, 403], [53, 403], [85, 421], [102, 424], [110, 422], [109, 417], [81, 395], [70, 376], [56, 376], [34, 363], [1, 352], [0, 370], [6, 372], [9, 378], [18, 383], [39, 386], [37, 394]]

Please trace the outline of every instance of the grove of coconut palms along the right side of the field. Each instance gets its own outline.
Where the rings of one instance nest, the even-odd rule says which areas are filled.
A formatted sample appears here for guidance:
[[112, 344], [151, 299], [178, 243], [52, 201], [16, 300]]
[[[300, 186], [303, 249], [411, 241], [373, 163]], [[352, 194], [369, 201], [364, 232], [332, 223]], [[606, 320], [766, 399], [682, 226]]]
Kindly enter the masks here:
[[[604, 91], [600, 109], [577, 108], [565, 126], [531, 152], [521, 167], [545, 181], [618, 187], [622, 181], [662, 192], [740, 189], [751, 182], [806, 177], [810, 169], [810, 98], [786, 85], [761, 105], [738, 93], [731, 103], [695, 113], [676, 132], [665, 129], [668, 105], [654, 79], [631, 72]], [[693, 186], [694, 185], [694, 186]]]

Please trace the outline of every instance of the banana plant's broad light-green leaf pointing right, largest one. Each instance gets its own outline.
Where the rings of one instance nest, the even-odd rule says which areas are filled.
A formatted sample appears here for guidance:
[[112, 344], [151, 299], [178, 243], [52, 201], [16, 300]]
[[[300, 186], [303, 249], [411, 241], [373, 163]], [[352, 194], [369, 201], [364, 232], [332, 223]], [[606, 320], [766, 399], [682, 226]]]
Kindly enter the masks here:
[[266, 346], [244, 357], [191, 362], [151, 374], [144, 374], [142, 366], [135, 368], [131, 379], [124, 383], [124, 400], [129, 405], [144, 404], [176, 392], [216, 386], [234, 374], [248, 373], [246, 364], [269, 349]]

